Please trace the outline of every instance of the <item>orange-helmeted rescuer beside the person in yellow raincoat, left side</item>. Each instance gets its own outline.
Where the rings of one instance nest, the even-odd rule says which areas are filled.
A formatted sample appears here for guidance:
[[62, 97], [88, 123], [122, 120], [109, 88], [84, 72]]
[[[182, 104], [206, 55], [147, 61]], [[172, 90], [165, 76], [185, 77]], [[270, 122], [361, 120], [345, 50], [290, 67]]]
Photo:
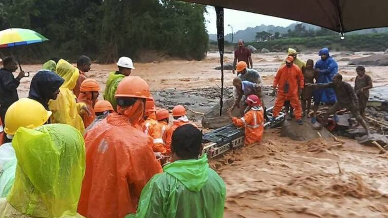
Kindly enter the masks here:
[[87, 78], [81, 83], [80, 94], [78, 95], [77, 102], [83, 102], [90, 113], [81, 114], [85, 128], [87, 128], [96, 118], [94, 106], [97, 102], [97, 98], [100, 95], [100, 86], [97, 81]]

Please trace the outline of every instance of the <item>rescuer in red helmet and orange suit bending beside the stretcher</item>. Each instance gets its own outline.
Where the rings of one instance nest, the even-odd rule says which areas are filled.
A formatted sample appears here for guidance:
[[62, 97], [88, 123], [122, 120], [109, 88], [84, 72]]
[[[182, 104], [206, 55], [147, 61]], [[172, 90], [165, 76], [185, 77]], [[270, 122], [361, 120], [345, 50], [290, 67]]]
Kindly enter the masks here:
[[260, 98], [251, 94], [246, 103], [251, 107], [244, 117], [233, 117], [232, 111], [228, 111], [229, 117], [237, 127], [245, 127], [245, 145], [260, 143], [264, 132], [264, 111]]

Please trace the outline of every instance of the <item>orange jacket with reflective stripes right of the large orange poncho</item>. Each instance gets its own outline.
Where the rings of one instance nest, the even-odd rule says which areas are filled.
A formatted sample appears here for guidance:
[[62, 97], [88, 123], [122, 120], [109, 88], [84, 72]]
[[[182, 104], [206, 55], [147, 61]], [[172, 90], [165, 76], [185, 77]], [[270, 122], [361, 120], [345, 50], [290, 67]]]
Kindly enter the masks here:
[[160, 152], [164, 154], [167, 150], [164, 148], [162, 138], [162, 128], [156, 121], [156, 113], [152, 112], [147, 120], [143, 123], [143, 130], [146, 135], [150, 135], [154, 139], [152, 149], [154, 152]]

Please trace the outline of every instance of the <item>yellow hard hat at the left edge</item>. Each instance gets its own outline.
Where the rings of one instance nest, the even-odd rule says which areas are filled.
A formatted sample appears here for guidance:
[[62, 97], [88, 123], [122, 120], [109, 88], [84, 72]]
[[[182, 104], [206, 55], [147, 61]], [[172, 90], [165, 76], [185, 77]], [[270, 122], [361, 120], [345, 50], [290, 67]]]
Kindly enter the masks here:
[[41, 103], [30, 98], [21, 98], [8, 108], [4, 131], [8, 135], [14, 135], [19, 127], [33, 129], [42, 126], [51, 114]]

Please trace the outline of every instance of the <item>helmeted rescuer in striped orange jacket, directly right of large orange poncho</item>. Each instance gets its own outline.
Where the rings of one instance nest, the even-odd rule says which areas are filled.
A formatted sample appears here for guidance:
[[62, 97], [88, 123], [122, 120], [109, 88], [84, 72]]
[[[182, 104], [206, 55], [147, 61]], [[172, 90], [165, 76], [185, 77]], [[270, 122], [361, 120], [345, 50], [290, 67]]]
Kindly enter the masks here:
[[150, 135], [154, 140], [152, 150], [154, 150], [154, 152], [165, 154], [167, 150], [164, 148], [163, 144], [162, 128], [156, 121], [156, 108], [155, 101], [153, 99], [145, 102], [144, 120], [143, 131], [146, 135]]

